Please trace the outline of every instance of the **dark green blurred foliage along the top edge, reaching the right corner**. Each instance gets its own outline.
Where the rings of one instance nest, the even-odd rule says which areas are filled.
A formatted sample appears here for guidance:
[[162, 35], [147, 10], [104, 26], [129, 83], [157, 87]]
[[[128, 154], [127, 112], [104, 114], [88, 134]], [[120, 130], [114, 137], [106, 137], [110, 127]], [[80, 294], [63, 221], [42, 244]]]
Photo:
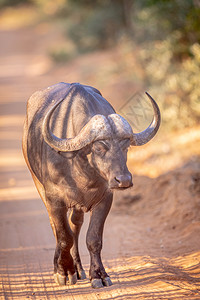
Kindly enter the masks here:
[[[35, 0], [36, 1], [36, 0]], [[173, 40], [182, 60], [200, 42], [200, 6], [195, 0], [63, 0], [57, 15], [67, 19], [66, 34], [79, 52], [114, 46], [121, 36], [146, 43]]]

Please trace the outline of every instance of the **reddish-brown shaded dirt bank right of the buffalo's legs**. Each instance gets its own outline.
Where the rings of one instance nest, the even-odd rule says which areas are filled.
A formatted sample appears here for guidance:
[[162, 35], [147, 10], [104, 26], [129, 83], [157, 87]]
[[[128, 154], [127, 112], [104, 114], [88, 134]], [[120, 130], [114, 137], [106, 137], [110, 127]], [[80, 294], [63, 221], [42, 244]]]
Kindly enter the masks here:
[[[134, 220], [132, 237], [151, 255], [172, 257], [200, 248], [200, 157], [157, 178], [135, 176], [115, 194], [114, 211]], [[144, 237], [142, 240], [140, 237]], [[141, 245], [139, 251], [143, 251]], [[144, 250], [145, 254], [145, 250]]]

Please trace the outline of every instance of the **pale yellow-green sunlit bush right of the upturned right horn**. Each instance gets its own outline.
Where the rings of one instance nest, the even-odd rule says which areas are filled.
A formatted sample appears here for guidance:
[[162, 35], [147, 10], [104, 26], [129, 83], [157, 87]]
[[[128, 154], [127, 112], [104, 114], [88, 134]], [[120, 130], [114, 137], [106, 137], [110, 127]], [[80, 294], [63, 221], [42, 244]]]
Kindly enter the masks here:
[[177, 129], [199, 121], [200, 45], [193, 44], [190, 47], [192, 56], [174, 64], [171, 39], [154, 45], [150, 43], [149, 48], [141, 51], [140, 58], [146, 84], [162, 99], [163, 123], [167, 129]]

